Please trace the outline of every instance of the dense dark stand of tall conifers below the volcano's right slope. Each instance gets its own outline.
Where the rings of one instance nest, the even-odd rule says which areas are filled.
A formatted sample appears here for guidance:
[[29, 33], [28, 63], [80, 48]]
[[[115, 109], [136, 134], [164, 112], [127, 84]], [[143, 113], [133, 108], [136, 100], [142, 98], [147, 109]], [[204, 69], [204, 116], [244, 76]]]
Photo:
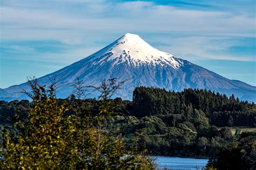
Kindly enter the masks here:
[[229, 98], [211, 90], [184, 89], [181, 92], [153, 87], [137, 87], [133, 91], [130, 110], [138, 117], [157, 115], [205, 114], [210, 125], [251, 126], [256, 125], [254, 102], [239, 101], [234, 95]]

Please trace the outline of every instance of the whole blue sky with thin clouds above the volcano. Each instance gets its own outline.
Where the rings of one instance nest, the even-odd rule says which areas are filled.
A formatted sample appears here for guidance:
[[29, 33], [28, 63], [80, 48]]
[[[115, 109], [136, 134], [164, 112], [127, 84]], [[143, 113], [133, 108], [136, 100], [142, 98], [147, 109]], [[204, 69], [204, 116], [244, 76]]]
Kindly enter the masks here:
[[2, 0], [0, 88], [80, 60], [123, 34], [256, 86], [254, 0]]

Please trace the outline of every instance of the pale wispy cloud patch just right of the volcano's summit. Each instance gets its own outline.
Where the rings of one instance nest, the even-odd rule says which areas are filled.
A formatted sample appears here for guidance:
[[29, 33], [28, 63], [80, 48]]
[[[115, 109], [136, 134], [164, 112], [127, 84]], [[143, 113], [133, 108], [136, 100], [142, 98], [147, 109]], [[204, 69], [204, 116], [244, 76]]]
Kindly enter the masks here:
[[156, 39], [158, 42], [165, 42], [165, 45], [158, 45], [163, 51], [173, 52], [190, 61], [216, 59], [234, 61], [255, 61], [255, 56], [250, 54], [235, 54], [230, 48], [244, 45], [240, 39], [229, 39], [227, 37], [161, 37]]

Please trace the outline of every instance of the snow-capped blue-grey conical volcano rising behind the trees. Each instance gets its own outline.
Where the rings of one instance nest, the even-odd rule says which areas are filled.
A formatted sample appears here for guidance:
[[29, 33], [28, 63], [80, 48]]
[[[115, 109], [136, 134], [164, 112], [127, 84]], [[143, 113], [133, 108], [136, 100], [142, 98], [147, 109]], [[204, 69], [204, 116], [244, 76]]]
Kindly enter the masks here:
[[[187, 60], [161, 52], [138, 35], [130, 33], [80, 61], [38, 78], [38, 82], [48, 84], [49, 79], [57, 79], [61, 84], [57, 97], [65, 98], [72, 94], [74, 89], [71, 84], [78, 77], [85, 85], [93, 86], [114, 77], [118, 81], [128, 80], [116, 94], [116, 97], [123, 99], [131, 99], [135, 87], [147, 86], [174, 91], [184, 88], [210, 89], [228, 96], [234, 94], [240, 100], [256, 101], [256, 87], [226, 79]], [[28, 82], [0, 89], [0, 99], [27, 98], [16, 93], [23, 89], [30, 90]]]

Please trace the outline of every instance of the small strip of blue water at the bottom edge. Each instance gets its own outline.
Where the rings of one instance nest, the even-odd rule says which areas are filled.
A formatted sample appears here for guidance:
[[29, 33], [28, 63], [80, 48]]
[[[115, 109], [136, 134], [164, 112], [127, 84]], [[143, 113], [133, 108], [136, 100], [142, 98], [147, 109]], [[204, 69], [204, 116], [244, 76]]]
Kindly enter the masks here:
[[179, 157], [153, 157], [156, 158], [157, 168], [167, 169], [200, 169], [205, 167], [208, 159], [179, 158]]

